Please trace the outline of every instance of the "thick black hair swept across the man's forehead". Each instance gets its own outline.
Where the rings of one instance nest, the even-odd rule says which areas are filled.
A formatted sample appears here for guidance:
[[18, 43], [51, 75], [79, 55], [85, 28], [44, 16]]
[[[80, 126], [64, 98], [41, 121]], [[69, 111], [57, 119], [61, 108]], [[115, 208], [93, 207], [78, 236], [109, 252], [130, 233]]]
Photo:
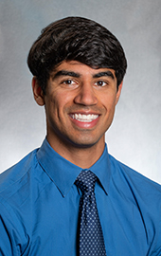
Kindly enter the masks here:
[[116, 37], [95, 21], [81, 17], [63, 18], [45, 27], [30, 48], [27, 64], [45, 93], [54, 68], [71, 60], [92, 68], [114, 69], [117, 87], [127, 68], [123, 48]]

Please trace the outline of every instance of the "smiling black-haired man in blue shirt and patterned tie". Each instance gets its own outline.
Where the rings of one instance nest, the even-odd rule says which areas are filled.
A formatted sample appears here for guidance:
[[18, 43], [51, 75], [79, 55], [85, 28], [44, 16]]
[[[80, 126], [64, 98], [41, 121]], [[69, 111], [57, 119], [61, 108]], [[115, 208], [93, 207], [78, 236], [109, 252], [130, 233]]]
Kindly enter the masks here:
[[45, 27], [27, 64], [46, 138], [1, 174], [0, 255], [161, 255], [160, 185], [105, 144], [127, 67], [116, 37], [68, 17]]

